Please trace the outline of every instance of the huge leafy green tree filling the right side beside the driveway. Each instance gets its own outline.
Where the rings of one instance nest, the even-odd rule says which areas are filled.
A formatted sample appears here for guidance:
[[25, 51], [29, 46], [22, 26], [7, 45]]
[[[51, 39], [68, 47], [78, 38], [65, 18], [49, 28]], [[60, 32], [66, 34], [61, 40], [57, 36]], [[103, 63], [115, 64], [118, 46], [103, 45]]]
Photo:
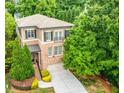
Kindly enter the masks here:
[[118, 86], [118, 11], [118, 0], [89, 2], [66, 38], [66, 68], [78, 75], [102, 75]]

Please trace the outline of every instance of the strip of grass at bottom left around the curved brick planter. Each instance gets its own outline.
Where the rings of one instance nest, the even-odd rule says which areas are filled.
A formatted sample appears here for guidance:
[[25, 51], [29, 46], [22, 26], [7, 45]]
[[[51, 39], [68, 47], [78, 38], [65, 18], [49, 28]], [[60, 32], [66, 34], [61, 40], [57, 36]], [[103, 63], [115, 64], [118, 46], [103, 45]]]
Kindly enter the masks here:
[[6, 74], [6, 93], [55, 93], [53, 88], [37, 88], [34, 90], [30, 90], [30, 91], [18, 91], [15, 89], [11, 89], [11, 85], [9, 82], [9, 74]]

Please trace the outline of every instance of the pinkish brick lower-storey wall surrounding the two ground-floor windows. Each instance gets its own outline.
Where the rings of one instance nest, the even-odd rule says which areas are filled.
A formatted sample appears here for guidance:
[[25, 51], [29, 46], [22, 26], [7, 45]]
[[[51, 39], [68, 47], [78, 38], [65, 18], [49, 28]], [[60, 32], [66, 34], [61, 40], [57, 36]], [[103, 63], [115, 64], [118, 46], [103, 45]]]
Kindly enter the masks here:
[[[62, 54], [61, 55], [54, 55], [54, 47], [55, 46], [62, 46]], [[48, 48], [52, 47], [52, 56], [48, 56]], [[63, 42], [59, 43], [48, 43], [42, 45], [41, 50], [41, 66], [42, 69], [46, 69], [48, 65], [61, 62], [63, 57]]]

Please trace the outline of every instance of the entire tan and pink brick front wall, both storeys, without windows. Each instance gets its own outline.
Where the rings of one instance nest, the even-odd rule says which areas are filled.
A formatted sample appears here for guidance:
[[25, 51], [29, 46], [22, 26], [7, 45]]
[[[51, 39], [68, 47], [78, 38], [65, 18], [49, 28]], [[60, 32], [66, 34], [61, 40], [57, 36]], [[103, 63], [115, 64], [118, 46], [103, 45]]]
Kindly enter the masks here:
[[[37, 30], [37, 38], [35, 39], [25, 39], [25, 30], [26, 28], [22, 28], [21, 29], [21, 42], [22, 45], [24, 45], [25, 43], [27, 45], [35, 45], [38, 44], [39, 47], [41, 48], [41, 51], [38, 52], [38, 60], [40, 68], [41, 69], [46, 69], [48, 67], [48, 65], [50, 64], [55, 64], [58, 62], [62, 62], [62, 58], [63, 58], [63, 43], [64, 43], [64, 39], [62, 39], [61, 41], [51, 41], [51, 42], [44, 42], [43, 41], [43, 32], [44, 31], [62, 31], [63, 32], [63, 37], [64, 37], [64, 31], [65, 29], [62, 28], [58, 28], [58, 29], [47, 29], [47, 30], [40, 30], [40, 29], [36, 29]], [[62, 54], [61, 55], [54, 55], [54, 47], [55, 46], [62, 46]], [[52, 56], [48, 56], [48, 48], [52, 47]]]

